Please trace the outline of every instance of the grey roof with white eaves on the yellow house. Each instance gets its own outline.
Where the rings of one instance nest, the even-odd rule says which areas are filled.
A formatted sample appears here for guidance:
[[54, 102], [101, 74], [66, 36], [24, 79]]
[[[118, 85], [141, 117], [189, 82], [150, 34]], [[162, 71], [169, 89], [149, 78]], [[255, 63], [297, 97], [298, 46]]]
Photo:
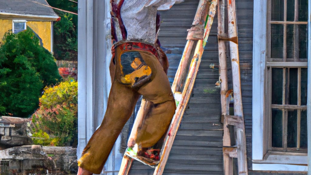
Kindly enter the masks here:
[[57, 14], [46, 0], [0, 0], [0, 19], [57, 21]]

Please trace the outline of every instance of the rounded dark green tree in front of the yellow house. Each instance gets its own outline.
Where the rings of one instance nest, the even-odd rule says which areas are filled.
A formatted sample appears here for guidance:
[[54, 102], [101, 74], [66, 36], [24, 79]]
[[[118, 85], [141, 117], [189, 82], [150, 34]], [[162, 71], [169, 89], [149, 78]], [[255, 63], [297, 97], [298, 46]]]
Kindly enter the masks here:
[[53, 55], [27, 29], [6, 33], [0, 47], [0, 114], [27, 117], [39, 104], [44, 86], [62, 78]]

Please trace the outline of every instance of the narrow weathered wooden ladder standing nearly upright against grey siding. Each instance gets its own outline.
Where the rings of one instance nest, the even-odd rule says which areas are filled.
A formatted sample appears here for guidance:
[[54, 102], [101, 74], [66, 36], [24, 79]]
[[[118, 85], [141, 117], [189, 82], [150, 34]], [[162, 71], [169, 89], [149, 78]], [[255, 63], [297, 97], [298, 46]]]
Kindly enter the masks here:
[[[224, 174], [233, 175], [232, 158], [238, 158], [239, 175], [247, 175], [246, 139], [242, 107], [238, 32], [235, 12], [235, 0], [227, 0], [228, 35], [225, 34], [225, 0], [218, 0], [218, 50], [219, 50], [219, 81], [221, 94], [221, 114], [224, 123], [223, 158]], [[226, 47], [225, 41], [229, 41], [232, 84], [234, 97], [234, 116], [229, 115], [230, 91], [228, 91]], [[235, 145], [231, 146], [230, 128], [234, 126]]]

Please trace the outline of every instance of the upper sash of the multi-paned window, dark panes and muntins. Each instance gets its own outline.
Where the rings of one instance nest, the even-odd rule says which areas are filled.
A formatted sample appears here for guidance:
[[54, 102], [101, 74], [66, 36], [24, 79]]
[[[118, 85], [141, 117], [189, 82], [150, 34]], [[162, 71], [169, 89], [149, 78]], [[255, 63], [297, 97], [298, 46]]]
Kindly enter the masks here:
[[308, 0], [270, 0], [269, 3], [267, 61], [306, 62]]

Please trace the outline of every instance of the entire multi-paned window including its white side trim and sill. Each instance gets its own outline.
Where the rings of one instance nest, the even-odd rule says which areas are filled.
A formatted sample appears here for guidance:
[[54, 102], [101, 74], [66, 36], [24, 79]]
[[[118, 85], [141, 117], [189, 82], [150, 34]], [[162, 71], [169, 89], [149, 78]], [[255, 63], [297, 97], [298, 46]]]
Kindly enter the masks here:
[[308, 5], [254, 0], [253, 170], [307, 170]]

